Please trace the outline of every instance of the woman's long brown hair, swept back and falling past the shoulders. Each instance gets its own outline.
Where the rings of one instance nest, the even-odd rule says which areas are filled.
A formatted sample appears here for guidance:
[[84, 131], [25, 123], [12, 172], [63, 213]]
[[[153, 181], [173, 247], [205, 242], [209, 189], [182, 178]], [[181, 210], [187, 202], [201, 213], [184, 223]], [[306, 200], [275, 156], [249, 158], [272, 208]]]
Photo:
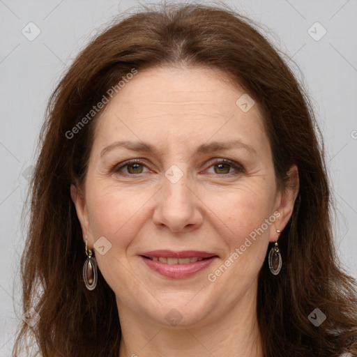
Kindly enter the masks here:
[[[224, 4], [144, 6], [77, 56], [50, 98], [40, 135], [21, 261], [23, 308], [33, 307], [40, 319], [34, 326], [22, 323], [14, 356], [26, 341], [44, 357], [119, 356], [114, 292], [100, 273], [93, 291], [82, 280], [84, 243], [70, 184], [83, 183], [98, 114], [85, 123], [82, 118], [133, 68], [182, 64], [223, 70], [254, 98], [282, 188], [289, 167], [298, 166], [298, 198], [279, 240], [282, 271], [272, 275], [265, 262], [259, 273], [264, 355], [357, 354], [356, 281], [342, 270], [333, 246], [331, 195], [312, 106], [256, 26]], [[307, 318], [315, 308], [326, 315], [318, 327]]]

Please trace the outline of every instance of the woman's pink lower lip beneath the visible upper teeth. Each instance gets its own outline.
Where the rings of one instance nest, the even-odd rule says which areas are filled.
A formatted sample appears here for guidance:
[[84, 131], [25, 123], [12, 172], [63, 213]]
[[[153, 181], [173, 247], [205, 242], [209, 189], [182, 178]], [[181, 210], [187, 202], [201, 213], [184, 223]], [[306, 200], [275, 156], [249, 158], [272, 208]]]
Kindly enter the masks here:
[[195, 261], [195, 263], [188, 264], [165, 264], [161, 261], [153, 261], [144, 257], [141, 258], [144, 260], [145, 264], [156, 273], [164, 275], [167, 278], [183, 279], [189, 278], [199, 271], [203, 271], [208, 268], [208, 266], [210, 266], [217, 257], [211, 257], [209, 259]]

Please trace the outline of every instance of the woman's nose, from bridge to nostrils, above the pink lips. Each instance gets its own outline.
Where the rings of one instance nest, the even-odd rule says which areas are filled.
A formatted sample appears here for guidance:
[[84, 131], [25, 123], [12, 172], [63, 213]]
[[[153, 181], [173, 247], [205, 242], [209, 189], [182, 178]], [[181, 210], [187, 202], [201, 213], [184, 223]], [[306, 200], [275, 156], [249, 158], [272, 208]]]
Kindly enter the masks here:
[[167, 227], [172, 232], [188, 232], [202, 225], [202, 201], [195, 192], [195, 185], [190, 184], [187, 174], [179, 181], [170, 181], [163, 177], [161, 190], [156, 197], [153, 222], [158, 227]]

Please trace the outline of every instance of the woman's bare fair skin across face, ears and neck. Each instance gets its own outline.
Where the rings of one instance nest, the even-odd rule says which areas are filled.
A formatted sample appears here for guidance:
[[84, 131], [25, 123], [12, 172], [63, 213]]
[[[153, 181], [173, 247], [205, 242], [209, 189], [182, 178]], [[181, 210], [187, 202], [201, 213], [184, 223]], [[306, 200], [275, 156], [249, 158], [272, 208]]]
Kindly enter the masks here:
[[[257, 276], [268, 243], [291, 216], [298, 172], [291, 167], [289, 188], [278, 189], [259, 107], [243, 112], [236, 105], [243, 93], [212, 68], [151, 68], [139, 71], [98, 119], [84, 187], [72, 185], [71, 196], [89, 248], [101, 236], [112, 245], [104, 255], [94, 252], [116, 294], [120, 357], [263, 356]], [[160, 153], [116, 147], [101, 155], [121, 140], [147, 142]], [[231, 140], [252, 151], [195, 153], [201, 144]], [[144, 165], [121, 167], [133, 158]], [[183, 173], [176, 183], [165, 176], [172, 165]], [[279, 217], [271, 222], [274, 212]], [[209, 281], [267, 219], [264, 233]], [[139, 257], [158, 249], [204, 250], [218, 259], [190, 278], [165, 278]], [[172, 309], [182, 317], [176, 326], [165, 319]]]

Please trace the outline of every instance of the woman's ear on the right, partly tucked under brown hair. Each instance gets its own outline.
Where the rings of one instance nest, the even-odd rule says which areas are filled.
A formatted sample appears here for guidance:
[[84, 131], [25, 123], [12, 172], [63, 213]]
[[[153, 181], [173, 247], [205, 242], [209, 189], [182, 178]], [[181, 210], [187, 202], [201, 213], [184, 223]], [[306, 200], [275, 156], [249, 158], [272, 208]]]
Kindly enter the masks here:
[[286, 185], [277, 195], [276, 211], [280, 213], [279, 217], [275, 220], [275, 229], [271, 229], [269, 234], [269, 241], [277, 241], [277, 229], [283, 231], [286, 227], [291, 215], [294, 211], [294, 204], [299, 190], [298, 167], [291, 165], [287, 172], [289, 180]]

